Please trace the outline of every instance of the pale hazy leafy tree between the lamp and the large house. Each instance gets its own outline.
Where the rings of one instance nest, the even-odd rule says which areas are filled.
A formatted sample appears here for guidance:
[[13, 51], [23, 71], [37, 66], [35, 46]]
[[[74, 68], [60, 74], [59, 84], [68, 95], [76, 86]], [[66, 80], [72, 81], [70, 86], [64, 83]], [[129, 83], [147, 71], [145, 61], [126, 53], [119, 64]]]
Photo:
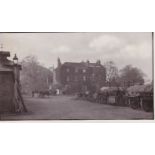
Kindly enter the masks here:
[[35, 56], [23, 59], [21, 84], [24, 92], [47, 90], [52, 82], [52, 72], [41, 66]]

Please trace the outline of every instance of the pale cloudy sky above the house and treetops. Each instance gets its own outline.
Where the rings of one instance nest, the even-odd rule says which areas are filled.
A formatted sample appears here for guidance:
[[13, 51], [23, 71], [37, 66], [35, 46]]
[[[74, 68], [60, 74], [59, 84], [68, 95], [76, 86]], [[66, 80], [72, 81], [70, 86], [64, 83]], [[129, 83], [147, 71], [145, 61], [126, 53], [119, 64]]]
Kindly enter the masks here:
[[3, 50], [15, 53], [19, 60], [34, 55], [46, 66], [61, 62], [115, 62], [121, 69], [126, 65], [138, 67], [152, 80], [151, 33], [0, 33]]

